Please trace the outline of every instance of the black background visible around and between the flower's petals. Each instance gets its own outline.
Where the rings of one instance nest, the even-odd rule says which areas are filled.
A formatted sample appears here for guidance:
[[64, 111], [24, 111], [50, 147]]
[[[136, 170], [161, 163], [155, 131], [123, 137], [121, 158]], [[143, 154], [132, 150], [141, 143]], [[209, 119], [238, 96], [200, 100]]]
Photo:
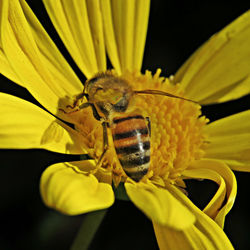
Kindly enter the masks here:
[[[28, 1], [81, 80], [77, 69], [51, 25], [40, 1]], [[143, 71], [162, 68], [174, 74], [181, 64], [215, 32], [244, 13], [247, 1], [152, 1]], [[23, 88], [1, 77], [0, 91], [36, 100]], [[204, 107], [211, 121], [249, 109], [250, 97]], [[38, 104], [39, 105], [39, 104]], [[21, 112], [21, 110], [20, 110]], [[84, 215], [68, 217], [44, 206], [39, 194], [43, 170], [75, 156], [45, 150], [2, 150], [0, 175], [0, 249], [69, 249]], [[250, 205], [248, 173], [235, 173], [238, 195], [226, 218], [225, 232], [236, 249], [248, 249]], [[209, 181], [189, 181], [189, 197], [201, 208], [216, 191]], [[151, 222], [134, 205], [116, 201], [109, 209], [90, 249], [157, 249]]]

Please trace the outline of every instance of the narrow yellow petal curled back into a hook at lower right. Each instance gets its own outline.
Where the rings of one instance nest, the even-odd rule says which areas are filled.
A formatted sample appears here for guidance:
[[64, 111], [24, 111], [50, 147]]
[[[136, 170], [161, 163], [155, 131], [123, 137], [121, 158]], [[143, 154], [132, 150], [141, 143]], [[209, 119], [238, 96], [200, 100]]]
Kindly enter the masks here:
[[205, 159], [195, 161], [190, 168], [190, 170], [183, 172], [184, 176], [209, 179], [219, 185], [216, 194], [204, 208], [203, 212], [223, 228], [225, 216], [231, 210], [237, 192], [237, 183], [233, 172], [222, 162]]

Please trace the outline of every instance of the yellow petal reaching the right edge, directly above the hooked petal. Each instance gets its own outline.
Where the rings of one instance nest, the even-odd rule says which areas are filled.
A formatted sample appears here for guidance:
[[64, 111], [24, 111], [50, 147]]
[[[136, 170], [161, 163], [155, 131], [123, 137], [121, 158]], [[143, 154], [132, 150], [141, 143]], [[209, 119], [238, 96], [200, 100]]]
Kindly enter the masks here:
[[208, 124], [205, 157], [218, 159], [233, 170], [250, 171], [250, 110]]

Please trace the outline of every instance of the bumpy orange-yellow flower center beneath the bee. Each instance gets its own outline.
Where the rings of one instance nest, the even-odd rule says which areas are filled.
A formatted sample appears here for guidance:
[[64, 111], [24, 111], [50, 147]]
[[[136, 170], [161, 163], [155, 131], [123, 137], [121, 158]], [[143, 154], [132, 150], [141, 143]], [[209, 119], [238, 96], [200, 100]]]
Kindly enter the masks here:
[[[176, 96], [184, 97], [180, 86], [174, 85], [168, 78], [160, 77], [160, 70], [155, 75], [147, 71], [125, 73], [121, 76], [133, 90], [161, 90]], [[175, 183], [189, 164], [202, 157], [201, 145], [204, 142], [202, 128], [207, 119], [201, 116], [201, 107], [193, 102], [153, 94], [138, 94], [133, 103], [143, 117], [148, 117], [151, 124], [150, 134], [150, 167], [142, 180], [150, 179]], [[90, 108], [80, 110], [75, 116], [76, 129], [86, 138], [89, 155], [98, 163], [103, 152], [103, 130]], [[124, 172], [108, 129], [108, 151], [101, 163], [101, 168], [112, 171], [116, 185], [127, 178]]]

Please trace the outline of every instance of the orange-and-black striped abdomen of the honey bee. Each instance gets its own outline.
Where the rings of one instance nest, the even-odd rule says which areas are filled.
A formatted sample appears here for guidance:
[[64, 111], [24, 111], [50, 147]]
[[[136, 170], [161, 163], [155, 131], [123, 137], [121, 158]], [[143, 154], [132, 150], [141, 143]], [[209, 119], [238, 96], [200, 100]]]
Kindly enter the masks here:
[[126, 174], [139, 181], [149, 169], [150, 135], [141, 115], [115, 117], [112, 135], [118, 159]]

